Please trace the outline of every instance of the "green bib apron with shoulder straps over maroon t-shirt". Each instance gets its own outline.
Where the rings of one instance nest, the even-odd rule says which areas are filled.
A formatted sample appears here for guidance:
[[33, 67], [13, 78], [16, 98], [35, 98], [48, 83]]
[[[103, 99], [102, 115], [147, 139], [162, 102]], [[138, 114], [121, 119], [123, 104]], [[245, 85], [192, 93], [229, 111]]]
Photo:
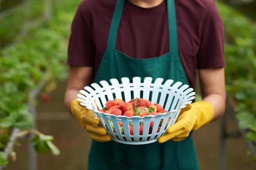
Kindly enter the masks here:
[[[161, 77], [188, 84], [177, 47], [174, 0], [167, 0], [170, 52], [150, 59], [134, 59], [115, 50], [117, 30], [125, 0], [118, 0], [113, 14], [108, 46], [94, 82], [110, 78], [140, 76]], [[159, 68], [154, 69], [152, 68]], [[180, 141], [144, 145], [96, 142], [92, 140], [88, 170], [198, 170], [198, 160], [191, 133]]]

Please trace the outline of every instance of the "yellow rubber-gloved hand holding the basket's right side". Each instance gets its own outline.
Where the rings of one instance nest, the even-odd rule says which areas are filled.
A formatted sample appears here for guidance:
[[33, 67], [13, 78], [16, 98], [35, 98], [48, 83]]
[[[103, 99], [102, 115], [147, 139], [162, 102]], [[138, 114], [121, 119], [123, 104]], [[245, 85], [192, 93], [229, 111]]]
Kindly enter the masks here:
[[213, 115], [214, 109], [209, 102], [193, 102], [180, 111], [176, 123], [167, 129], [165, 135], [158, 138], [158, 142], [164, 143], [170, 139], [175, 142], [184, 140], [191, 131], [195, 131], [211, 122]]

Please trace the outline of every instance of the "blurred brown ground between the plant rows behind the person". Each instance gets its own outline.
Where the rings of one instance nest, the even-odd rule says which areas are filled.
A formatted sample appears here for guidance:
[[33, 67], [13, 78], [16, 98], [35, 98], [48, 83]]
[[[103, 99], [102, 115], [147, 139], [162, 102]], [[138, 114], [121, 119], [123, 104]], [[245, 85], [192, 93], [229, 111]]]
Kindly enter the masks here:
[[[35, 170], [87, 170], [87, 155], [91, 139], [85, 129], [67, 113], [63, 104], [66, 82], [59, 82], [48, 103], [39, 98], [37, 107], [37, 128], [46, 135], [54, 136], [54, 144], [61, 155], [48, 152], [36, 155]], [[236, 124], [227, 116], [225, 122], [229, 131], [238, 132]], [[248, 146], [243, 137], [226, 138], [224, 151], [225, 166], [220, 168], [220, 120], [212, 122], [193, 133], [198, 152], [200, 170], [256, 170], [256, 162], [247, 155]], [[16, 162], [9, 161], [4, 170], [30, 170], [26, 137], [17, 140], [14, 150]], [[104, 168], [103, 168], [104, 169]]]

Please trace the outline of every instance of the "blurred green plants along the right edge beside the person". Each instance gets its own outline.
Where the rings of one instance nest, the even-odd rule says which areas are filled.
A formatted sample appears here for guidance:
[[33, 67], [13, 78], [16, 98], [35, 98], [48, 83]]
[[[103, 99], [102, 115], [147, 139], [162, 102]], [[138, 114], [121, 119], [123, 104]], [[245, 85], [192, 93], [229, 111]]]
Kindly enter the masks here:
[[256, 142], [256, 24], [217, 2], [225, 26], [226, 89], [235, 102], [238, 126]]

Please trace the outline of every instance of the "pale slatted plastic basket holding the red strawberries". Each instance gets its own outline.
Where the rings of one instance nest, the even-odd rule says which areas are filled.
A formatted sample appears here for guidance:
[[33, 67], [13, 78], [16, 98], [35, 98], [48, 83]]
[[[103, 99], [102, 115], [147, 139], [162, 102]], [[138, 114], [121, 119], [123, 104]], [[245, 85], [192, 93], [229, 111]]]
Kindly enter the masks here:
[[[91, 86], [85, 86], [80, 90], [78, 100], [81, 105], [92, 112], [100, 120], [101, 126], [107, 129], [108, 135], [112, 140], [123, 144], [149, 144], [156, 142], [157, 139], [166, 133], [168, 127], [176, 122], [180, 110], [191, 103], [195, 98], [195, 92], [189, 85], [182, 85], [181, 82], [174, 82], [171, 79], [164, 83], [163, 78], [146, 77], [141, 81], [140, 77], [133, 77], [132, 82], [127, 77], [121, 78], [121, 83], [115, 78], [107, 81], [100, 81], [99, 84], [92, 83]], [[161, 113], [156, 116], [149, 115], [145, 117], [132, 116], [115, 116], [113, 114], [102, 113], [98, 111], [105, 107], [108, 100], [121, 98], [125, 102], [132, 98], [144, 98], [152, 103], [159, 103], [164, 107], [167, 113]], [[168, 119], [170, 120], [168, 121]], [[112, 120], [115, 131], [113, 131], [110, 120]], [[123, 124], [124, 133], [121, 133], [118, 122]], [[150, 122], [154, 121], [152, 132], [149, 133]], [[132, 122], [133, 135], [130, 135], [129, 122]], [[139, 125], [143, 122], [143, 134], [139, 135]], [[159, 124], [162, 123], [159, 129]]]

